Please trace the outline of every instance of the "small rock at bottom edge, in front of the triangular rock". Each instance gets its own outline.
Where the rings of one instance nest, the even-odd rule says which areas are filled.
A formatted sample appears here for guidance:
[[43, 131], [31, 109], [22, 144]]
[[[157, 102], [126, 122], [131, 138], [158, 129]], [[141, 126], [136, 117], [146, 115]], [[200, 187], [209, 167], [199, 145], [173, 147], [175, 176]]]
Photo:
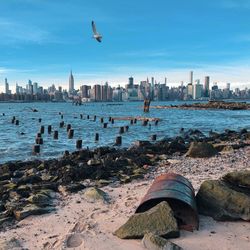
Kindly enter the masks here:
[[181, 247], [152, 233], [147, 233], [142, 239], [142, 245], [149, 250], [182, 250]]

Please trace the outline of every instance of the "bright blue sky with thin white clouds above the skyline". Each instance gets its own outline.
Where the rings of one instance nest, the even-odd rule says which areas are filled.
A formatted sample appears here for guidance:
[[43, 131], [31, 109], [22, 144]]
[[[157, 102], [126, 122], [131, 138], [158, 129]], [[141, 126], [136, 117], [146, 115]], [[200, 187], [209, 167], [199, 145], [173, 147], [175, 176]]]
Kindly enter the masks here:
[[[0, 0], [0, 91], [124, 85], [154, 76], [169, 85], [209, 75], [250, 87], [250, 0]], [[91, 21], [103, 36], [92, 38]]]

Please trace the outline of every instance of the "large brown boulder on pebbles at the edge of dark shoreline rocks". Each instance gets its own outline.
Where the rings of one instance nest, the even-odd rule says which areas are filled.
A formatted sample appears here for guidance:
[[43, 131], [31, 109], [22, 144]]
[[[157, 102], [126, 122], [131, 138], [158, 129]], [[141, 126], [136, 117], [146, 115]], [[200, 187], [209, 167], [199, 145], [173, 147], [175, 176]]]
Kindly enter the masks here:
[[205, 157], [212, 157], [217, 153], [218, 153], [217, 150], [210, 143], [191, 142], [191, 145], [186, 155], [193, 158], [205, 158]]

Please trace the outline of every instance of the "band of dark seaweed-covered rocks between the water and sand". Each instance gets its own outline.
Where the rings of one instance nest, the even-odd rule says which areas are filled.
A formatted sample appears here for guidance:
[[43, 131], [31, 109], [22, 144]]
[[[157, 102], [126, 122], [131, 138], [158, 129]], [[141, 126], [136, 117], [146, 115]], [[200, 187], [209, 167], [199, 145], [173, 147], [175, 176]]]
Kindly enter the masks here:
[[[60, 159], [46, 161], [8, 162], [0, 165], [0, 227], [29, 215], [48, 213], [55, 210], [58, 193], [77, 192], [86, 187], [84, 181], [101, 187], [112, 182], [128, 183], [143, 178], [157, 165], [162, 155], [184, 155], [190, 143], [199, 141], [213, 144], [216, 153], [230, 145], [230, 150], [244, 147], [250, 138], [247, 130], [226, 130], [208, 137], [199, 130], [182, 129], [175, 138], [166, 138], [155, 143], [138, 141], [129, 149], [101, 147], [95, 150], [82, 149], [65, 154]], [[204, 145], [196, 145], [197, 157]], [[198, 147], [198, 148], [197, 148]], [[206, 149], [207, 152], [207, 149]], [[196, 157], [194, 154], [189, 157]], [[153, 169], [152, 169], [153, 170]]]

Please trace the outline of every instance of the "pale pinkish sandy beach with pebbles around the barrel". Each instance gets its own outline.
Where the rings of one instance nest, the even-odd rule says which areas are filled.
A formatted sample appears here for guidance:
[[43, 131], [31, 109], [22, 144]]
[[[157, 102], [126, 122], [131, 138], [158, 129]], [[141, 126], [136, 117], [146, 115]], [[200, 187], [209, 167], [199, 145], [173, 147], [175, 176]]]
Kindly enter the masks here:
[[[0, 232], [0, 240], [15, 238], [20, 249], [144, 249], [141, 240], [121, 240], [113, 232], [135, 212], [156, 176], [166, 172], [181, 174], [192, 182], [197, 192], [204, 180], [250, 169], [249, 159], [249, 146], [207, 159], [163, 155], [158, 166], [149, 166], [150, 171], [143, 180], [123, 185], [114, 182], [103, 187], [109, 202], [89, 201], [84, 198], [85, 190], [58, 195], [56, 212], [27, 217]], [[187, 250], [248, 250], [250, 223], [216, 222], [211, 217], [200, 216], [198, 231], [181, 231], [180, 238], [172, 242]]]

